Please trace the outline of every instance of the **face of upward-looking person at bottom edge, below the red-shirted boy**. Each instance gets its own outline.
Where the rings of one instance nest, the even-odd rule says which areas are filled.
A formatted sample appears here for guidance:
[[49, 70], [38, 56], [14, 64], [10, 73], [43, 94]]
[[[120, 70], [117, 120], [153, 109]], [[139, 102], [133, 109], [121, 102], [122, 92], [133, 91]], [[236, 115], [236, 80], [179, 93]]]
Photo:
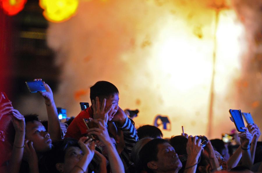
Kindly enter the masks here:
[[66, 149], [65, 162], [63, 163], [63, 172], [70, 172], [75, 167], [75, 165], [81, 160], [82, 157], [83, 152], [79, 147], [69, 147], [68, 149]]

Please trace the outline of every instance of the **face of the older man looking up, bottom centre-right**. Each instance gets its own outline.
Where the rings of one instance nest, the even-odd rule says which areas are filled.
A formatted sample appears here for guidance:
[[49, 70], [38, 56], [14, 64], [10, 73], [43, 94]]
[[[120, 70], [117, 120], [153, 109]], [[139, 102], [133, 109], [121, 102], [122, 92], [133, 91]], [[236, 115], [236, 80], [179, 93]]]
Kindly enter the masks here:
[[158, 153], [156, 162], [159, 171], [180, 170], [182, 163], [175, 149], [167, 142], [157, 146]]

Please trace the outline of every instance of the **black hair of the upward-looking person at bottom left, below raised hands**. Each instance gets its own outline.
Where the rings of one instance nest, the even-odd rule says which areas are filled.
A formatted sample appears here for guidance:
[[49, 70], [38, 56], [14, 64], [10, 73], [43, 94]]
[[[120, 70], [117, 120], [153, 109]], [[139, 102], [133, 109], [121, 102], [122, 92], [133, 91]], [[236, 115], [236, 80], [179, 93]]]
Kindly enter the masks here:
[[53, 148], [48, 151], [45, 158], [45, 165], [48, 172], [59, 172], [56, 170], [56, 163], [65, 162], [65, 150], [69, 147], [81, 147], [78, 145], [78, 141], [73, 138], [65, 138], [62, 141], [53, 142]]

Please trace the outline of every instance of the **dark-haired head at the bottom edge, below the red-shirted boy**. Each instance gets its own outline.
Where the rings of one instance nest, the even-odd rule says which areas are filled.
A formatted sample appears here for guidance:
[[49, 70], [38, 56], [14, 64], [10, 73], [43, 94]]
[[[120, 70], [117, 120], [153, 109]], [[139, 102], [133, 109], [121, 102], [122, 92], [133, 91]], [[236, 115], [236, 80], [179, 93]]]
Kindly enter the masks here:
[[70, 172], [82, 156], [77, 140], [65, 138], [63, 141], [54, 142], [54, 147], [47, 156], [49, 171]]

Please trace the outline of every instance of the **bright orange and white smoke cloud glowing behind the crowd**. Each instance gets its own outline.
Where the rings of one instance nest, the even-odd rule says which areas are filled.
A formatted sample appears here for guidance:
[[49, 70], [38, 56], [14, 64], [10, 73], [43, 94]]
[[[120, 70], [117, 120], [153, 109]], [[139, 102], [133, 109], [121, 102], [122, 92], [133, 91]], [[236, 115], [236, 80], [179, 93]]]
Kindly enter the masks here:
[[229, 109], [250, 112], [262, 129], [261, 17], [260, 0], [82, 0], [47, 30], [61, 67], [56, 105], [76, 116], [79, 102], [91, 103], [89, 87], [105, 80], [122, 109], [139, 109], [137, 127], [168, 116], [164, 137], [184, 126], [220, 138], [234, 128]]

